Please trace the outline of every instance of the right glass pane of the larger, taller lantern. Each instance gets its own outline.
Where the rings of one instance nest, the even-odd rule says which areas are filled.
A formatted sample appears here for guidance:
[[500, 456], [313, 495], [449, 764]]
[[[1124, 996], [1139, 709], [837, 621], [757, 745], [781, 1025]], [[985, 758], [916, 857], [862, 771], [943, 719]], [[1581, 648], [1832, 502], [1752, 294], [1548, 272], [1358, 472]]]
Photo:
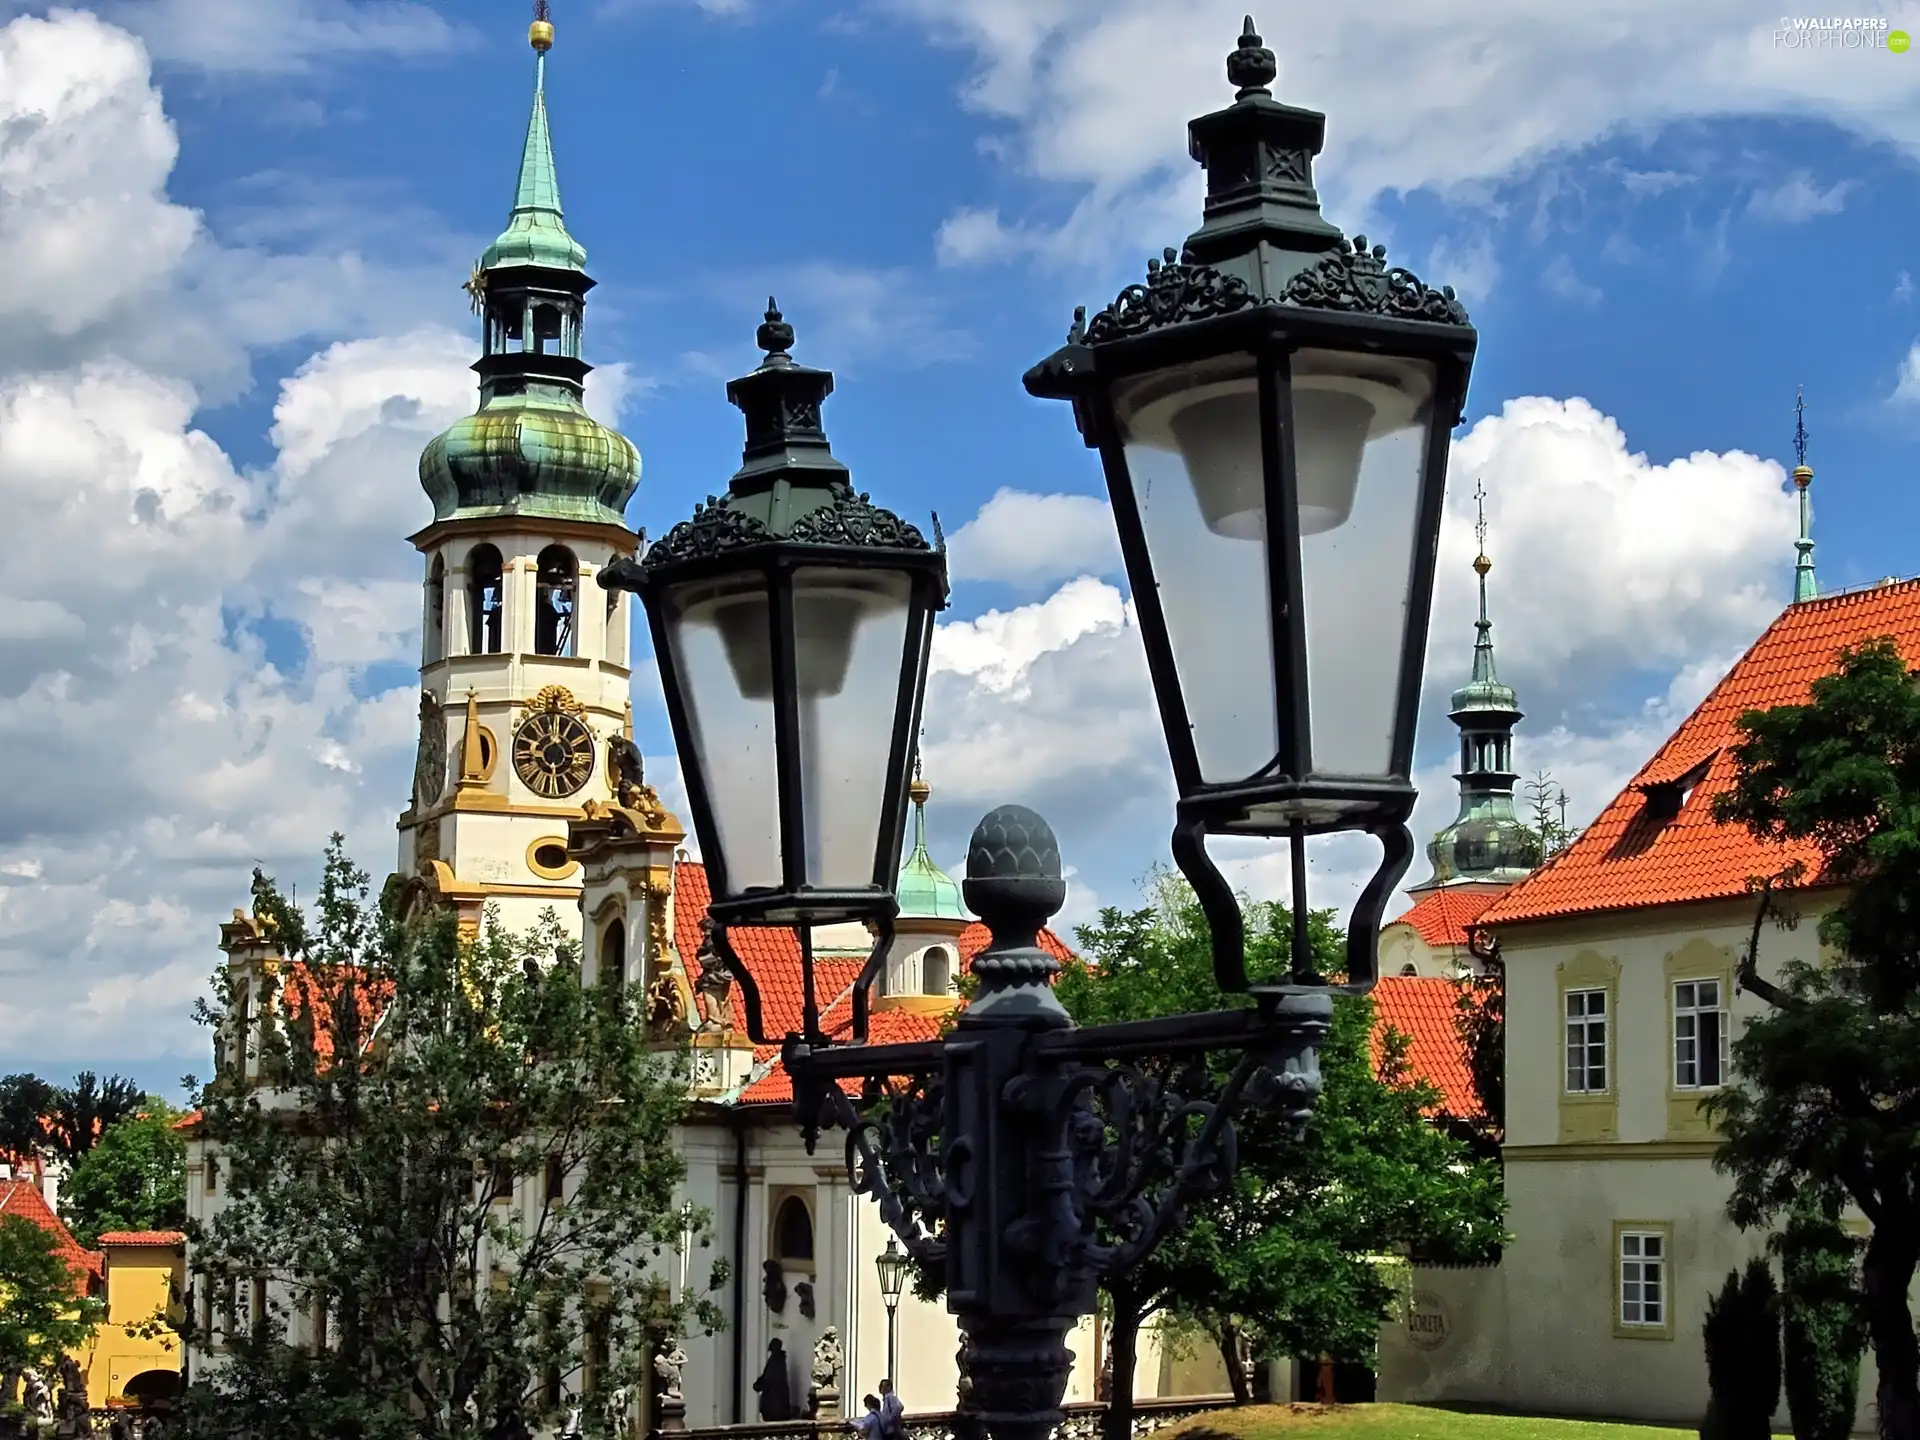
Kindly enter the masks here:
[[1302, 349], [1292, 399], [1313, 772], [1386, 776], [1434, 367]]

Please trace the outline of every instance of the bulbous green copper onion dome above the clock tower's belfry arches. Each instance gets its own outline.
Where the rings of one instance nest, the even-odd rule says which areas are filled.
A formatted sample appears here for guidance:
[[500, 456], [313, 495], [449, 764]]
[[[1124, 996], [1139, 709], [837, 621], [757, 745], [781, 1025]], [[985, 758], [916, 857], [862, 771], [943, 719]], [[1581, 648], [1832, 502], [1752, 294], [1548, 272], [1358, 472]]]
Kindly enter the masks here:
[[[543, 394], [541, 394], [543, 392]], [[563, 386], [482, 397], [420, 453], [434, 518], [534, 515], [624, 524], [639, 488], [639, 451], [599, 424]]]

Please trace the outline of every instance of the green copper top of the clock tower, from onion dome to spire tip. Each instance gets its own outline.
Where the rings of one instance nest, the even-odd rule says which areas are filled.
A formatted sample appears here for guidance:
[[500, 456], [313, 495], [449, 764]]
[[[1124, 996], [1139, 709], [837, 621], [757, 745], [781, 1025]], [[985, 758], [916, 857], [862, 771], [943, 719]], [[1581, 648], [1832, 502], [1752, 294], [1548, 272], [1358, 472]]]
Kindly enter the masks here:
[[420, 455], [434, 520], [530, 516], [626, 524], [639, 486], [634, 442], [586, 413], [580, 359], [588, 252], [566, 232], [547, 129], [547, 50], [536, 21], [534, 113], [520, 152], [513, 217], [467, 280], [486, 326], [480, 409]]

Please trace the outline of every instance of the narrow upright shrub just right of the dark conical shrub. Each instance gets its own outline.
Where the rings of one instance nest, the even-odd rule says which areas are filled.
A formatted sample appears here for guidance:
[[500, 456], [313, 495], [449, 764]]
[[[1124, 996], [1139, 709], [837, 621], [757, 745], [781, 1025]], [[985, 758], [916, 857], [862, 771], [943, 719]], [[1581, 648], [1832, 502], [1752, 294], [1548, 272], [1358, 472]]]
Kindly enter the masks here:
[[1805, 1190], [1768, 1240], [1780, 1258], [1780, 1342], [1795, 1440], [1847, 1440], [1859, 1407], [1860, 1242], [1841, 1227], [1839, 1210], [1837, 1194]]

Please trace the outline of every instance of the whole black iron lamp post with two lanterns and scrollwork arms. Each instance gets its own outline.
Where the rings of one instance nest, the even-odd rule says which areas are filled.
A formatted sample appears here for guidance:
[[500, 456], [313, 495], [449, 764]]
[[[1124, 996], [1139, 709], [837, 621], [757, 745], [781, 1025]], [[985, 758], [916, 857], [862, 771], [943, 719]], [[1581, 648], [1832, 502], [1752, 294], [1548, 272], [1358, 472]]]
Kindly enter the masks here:
[[[1202, 227], [1146, 284], [1081, 311], [1025, 380], [1071, 401], [1106, 470], [1179, 787], [1173, 852], [1233, 1008], [1077, 1029], [1039, 945], [1066, 900], [1060, 849], [1008, 804], [968, 849], [964, 895], [991, 931], [973, 998], [937, 1041], [866, 1043], [945, 543], [937, 522], [929, 545], [852, 492], [820, 428], [831, 376], [793, 363], [776, 309], [766, 361], [728, 386], [747, 417], [728, 495], [599, 576], [647, 607], [714, 964], [741, 989], [751, 1039], [781, 1044], [808, 1146], [843, 1129], [852, 1187], [877, 1202], [902, 1267], [943, 1275], [962, 1423], [995, 1440], [1046, 1440], [1060, 1423], [1068, 1332], [1102, 1275], [1233, 1177], [1235, 1112], [1304, 1123], [1332, 995], [1373, 985], [1380, 912], [1413, 852], [1413, 720], [1475, 332], [1450, 290], [1321, 219], [1325, 117], [1273, 100], [1275, 71], [1248, 21], [1227, 61], [1235, 102], [1190, 127]], [[1306, 839], [1334, 831], [1382, 843], [1340, 985], [1315, 973], [1306, 925]], [[1206, 852], [1215, 833], [1292, 845], [1283, 979], [1246, 973], [1238, 904]], [[849, 920], [874, 950], [847, 1033], [829, 1037], [810, 927]], [[803, 1012], [785, 1037], [764, 1031], [743, 960], [766, 950], [732, 939], [753, 925], [797, 929]], [[1215, 1054], [1238, 1058], [1213, 1071]]]

